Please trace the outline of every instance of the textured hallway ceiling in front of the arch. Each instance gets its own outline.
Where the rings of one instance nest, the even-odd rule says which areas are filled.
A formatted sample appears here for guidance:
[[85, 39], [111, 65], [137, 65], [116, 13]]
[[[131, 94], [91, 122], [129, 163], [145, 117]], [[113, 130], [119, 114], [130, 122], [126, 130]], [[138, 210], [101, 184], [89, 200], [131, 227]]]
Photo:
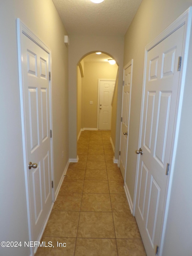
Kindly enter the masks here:
[[69, 35], [125, 35], [142, 0], [52, 0]]

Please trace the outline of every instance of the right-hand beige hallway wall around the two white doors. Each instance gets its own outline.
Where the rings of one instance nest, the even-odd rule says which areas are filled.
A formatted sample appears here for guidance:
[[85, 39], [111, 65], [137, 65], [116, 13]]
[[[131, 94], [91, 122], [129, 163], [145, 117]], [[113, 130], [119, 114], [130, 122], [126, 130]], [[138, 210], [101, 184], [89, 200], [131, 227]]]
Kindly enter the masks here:
[[[137, 155], [135, 150], [138, 146], [140, 107], [143, 83], [144, 49], [160, 32], [170, 25], [190, 5], [190, 0], [143, 0], [134, 20], [125, 35], [124, 65], [134, 59], [133, 81], [131, 93], [131, 114], [128, 146], [128, 170], [126, 183], [134, 198], [134, 185], [136, 173]], [[191, 46], [192, 44], [190, 44]], [[191, 48], [191, 47], [190, 47]], [[191, 255], [191, 161], [190, 155], [185, 154], [192, 144], [191, 116], [192, 101], [191, 92], [191, 59], [188, 65], [187, 79], [184, 89], [184, 104], [182, 107], [182, 122], [178, 142], [178, 152], [171, 192], [170, 208], [168, 214], [167, 230], [165, 233], [164, 255]], [[185, 149], [185, 150], [184, 150]], [[162, 248], [161, 248], [162, 249]]]

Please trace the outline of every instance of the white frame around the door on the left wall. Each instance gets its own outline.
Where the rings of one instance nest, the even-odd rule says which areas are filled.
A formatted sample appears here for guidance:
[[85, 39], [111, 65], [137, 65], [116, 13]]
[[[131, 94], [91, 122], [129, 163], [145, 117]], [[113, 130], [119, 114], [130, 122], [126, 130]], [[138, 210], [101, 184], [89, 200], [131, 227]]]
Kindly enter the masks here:
[[[46, 47], [46, 45], [37, 38], [22, 22], [19, 18], [17, 18], [17, 43], [18, 43], [18, 62], [19, 62], [19, 86], [20, 86], [20, 102], [21, 102], [21, 122], [22, 122], [22, 144], [23, 144], [23, 158], [24, 158], [24, 172], [25, 172], [25, 183], [26, 183], [26, 198], [27, 198], [27, 214], [28, 214], [28, 227], [29, 227], [29, 240], [33, 241], [33, 234], [32, 234], [32, 224], [31, 224], [31, 209], [30, 209], [30, 197], [29, 197], [29, 172], [28, 172], [28, 162], [27, 162], [27, 147], [26, 147], [26, 133], [25, 133], [25, 112], [24, 112], [24, 83], [23, 83], [23, 74], [22, 74], [22, 34], [26, 35], [29, 39], [31, 39], [35, 44], [41, 47], [44, 51], [49, 54], [49, 71], [51, 71], [51, 50]], [[49, 81], [49, 111], [50, 111], [50, 129], [52, 130], [52, 93], [51, 93], [51, 81]], [[54, 181], [54, 172], [53, 172], [53, 142], [52, 139], [50, 140], [50, 156], [51, 156], [51, 178]], [[52, 189], [52, 200], [55, 201], [55, 193], [54, 189]], [[52, 203], [53, 206], [53, 203]], [[51, 206], [51, 207], [52, 207]], [[51, 211], [50, 211], [51, 212]], [[50, 214], [49, 212], [49, 214]], [[46, 222], [44, 224], [44, 228], [46, 226]], [[44, 230], [43, 228], [43, 230]], [[40, 234], [43, 234], [43, 230]], [[36, 248], [35, 248], [36, 249]], [[31, 255], [34, 255], [34, 248], [30, 247]]]

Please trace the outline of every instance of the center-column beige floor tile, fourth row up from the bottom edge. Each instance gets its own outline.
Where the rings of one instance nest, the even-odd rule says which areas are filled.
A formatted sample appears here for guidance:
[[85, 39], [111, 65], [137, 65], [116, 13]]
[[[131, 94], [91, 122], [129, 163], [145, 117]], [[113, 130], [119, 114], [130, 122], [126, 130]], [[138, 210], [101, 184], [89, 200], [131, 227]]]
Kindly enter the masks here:
[[109, 194], [107, 180], [85, 180], [83, 193]]

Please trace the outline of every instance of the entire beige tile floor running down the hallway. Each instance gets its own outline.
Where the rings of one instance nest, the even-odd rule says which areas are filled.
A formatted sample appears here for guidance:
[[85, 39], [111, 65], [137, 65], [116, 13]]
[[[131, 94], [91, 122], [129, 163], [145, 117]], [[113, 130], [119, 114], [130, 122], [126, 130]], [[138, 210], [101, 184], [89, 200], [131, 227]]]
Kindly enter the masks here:
[[110, 131], [82, 131], [78, 155], [79, 162], [69, 164], [42, 237], [54, 248], [39, 247], [35, 255], [146, 255], [120, 169], [113, 164]]

